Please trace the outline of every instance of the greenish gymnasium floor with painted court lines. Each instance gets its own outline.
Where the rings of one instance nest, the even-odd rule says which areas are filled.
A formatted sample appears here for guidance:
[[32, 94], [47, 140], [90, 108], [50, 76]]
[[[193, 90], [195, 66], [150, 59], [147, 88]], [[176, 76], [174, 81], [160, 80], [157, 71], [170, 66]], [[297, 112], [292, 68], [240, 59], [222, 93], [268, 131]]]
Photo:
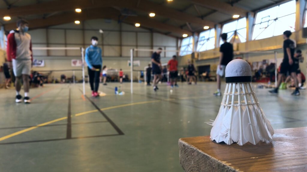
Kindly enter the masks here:
[[[91, 98], [88, 86], [83, 97], [81, 84], [47, 84], [30, 91], [29, 105], [1, 89], [0, 171], [183, 171], [178, 139], [210, 134], [204, 122], [215, 119], [222, 100], [212, 96], [216, 84], [184, 83], [172, 93], [162, 84], [155, 93], [135, 83], [131, 95], [125, 83], [121, 96], [115, 86]], [[274, 129], [307, 126], [307, 90], [297, 97], [255, 91]]]

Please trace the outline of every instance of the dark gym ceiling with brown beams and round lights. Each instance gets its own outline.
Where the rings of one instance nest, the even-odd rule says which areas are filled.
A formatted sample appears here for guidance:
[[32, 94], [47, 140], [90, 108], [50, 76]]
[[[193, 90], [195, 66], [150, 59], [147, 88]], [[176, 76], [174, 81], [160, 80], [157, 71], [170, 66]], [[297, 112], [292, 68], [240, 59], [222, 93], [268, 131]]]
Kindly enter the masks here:
[[[18, 18], [25, 18], [31, 28], [46, 28], [76, 19], [108, 18], [124, 23], [141, 23], [141, 27], [166, 35], [182, 37], [202, 32], [232, 20], [233, 14], [246, 14], [285, 0], [0, 0], [0, 24], [15, 28]], [[74, 12], [81, 8], [82, 13]], [[150, 12], [156, 16], [150, 18]], [[130, 15], [127, 16], [126, 14]], [[131, 15], [132, 14], [132, 15]], [[10, 21], [2, 17], [10, 16]]]

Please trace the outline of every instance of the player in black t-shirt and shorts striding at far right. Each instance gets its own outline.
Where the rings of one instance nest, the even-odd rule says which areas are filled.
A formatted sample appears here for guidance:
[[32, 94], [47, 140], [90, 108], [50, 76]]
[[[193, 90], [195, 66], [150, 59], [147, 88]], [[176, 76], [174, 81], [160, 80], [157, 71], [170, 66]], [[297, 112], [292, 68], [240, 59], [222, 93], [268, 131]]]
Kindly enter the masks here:
[[289, 39], [291, 34], [292, 34], [291, 31], [284, 32], [284, 39], [285, 39], [284, 44], [283, 44], [284, 59], [282, 60], [280, 73], [278, 75], [277, 87], [274, 90], [269, 91], [270, 93], [273, 93], [273, 94], [278, 93], [278, 88], [280, 84], [282, 83], [283, 76], [286, 75], [287, 72], [289, 72], [295, 83], [295, 91], [291, 95], [300, 95], [300, 91], [298, 88], [298, 80], [296, 77], [296, 72], [299, 67], [298, 65], [294, 64], [295, 43], [291, 39]]

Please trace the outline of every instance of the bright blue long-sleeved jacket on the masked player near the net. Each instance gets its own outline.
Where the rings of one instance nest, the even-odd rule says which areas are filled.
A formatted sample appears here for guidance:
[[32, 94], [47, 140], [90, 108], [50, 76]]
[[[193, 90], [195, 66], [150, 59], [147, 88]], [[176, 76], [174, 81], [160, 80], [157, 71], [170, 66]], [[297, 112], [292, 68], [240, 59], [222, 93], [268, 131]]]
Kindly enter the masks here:
[[85, 50], [85, 62], [87, 66], [91, 69], [93, 65], [102, 65], [102, 50], [100, 47], [89, 46]]

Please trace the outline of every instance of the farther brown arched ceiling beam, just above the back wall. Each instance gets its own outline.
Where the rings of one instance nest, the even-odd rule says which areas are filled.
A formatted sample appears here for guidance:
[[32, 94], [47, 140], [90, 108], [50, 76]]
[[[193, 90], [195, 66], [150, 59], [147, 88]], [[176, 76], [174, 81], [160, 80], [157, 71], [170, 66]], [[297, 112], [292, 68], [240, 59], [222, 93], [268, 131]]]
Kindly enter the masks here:
[[[29, 26], [31, 29], [35, 28], [45, 28], [48, 26], [53, 25], [59, 25], [59, 24], [65, 24], [65, 23], [71, 23], [73, 21], [80, 20], [91, 20], [91, 19], [98, 19], [98, 18], [109, 18], [112, 20], [117, 21], [119, 16], [119, 11], [112, 8], [101, 8], [101, 9], [92, 9], [92, 10], [86, 10], [83, 13], [64, 13], [60, 15], [55, 15], [46, 19], [33, 19], [29, 21]], [[156, 20], [149, 20], [147, 17], [127, 17], [124, 20], [125, 23], [134, 24], [136, 22], [141, 23], [141, 26], [144, 26], [146, 28], [155, 28], [159, 30], [165, 30], [172, 33], [178, 33], [178, 34], [188, 34], [192, 35], [192, 32], [188, 30], [184, 30], [172, 25], [164, 24]], [[15, 23], [9, 23], [4, 25], [5, 29], [11, 30], [16, 29]]]

